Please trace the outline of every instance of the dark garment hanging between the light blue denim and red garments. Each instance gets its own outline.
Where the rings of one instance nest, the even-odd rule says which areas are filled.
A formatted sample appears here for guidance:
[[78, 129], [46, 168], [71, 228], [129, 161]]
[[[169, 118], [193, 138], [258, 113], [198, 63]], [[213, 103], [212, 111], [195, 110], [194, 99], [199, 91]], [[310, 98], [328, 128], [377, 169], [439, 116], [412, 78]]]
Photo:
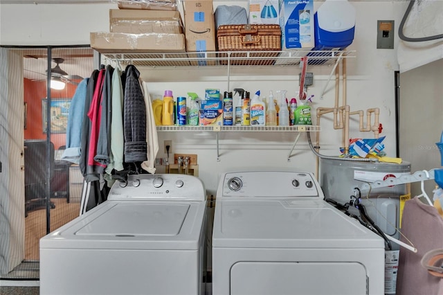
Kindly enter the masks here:
[[98, 78], [98, 70], [94, 70], [91, 73], [87, 84], [87, 96], [84, 101], [84, 114], [82, 122], [82, 134], [81, 134], [81, 145], [80, 145], [80, 171], [84, 177], [85, 181], [98, 180], [98, 175], [88, 176], [88, 151], [89, 151], [89, 134], [91, 134], [91, 120], [88, 117], [89, 107], [91, 106], [94, 89], [96, 88], [96, 82]]

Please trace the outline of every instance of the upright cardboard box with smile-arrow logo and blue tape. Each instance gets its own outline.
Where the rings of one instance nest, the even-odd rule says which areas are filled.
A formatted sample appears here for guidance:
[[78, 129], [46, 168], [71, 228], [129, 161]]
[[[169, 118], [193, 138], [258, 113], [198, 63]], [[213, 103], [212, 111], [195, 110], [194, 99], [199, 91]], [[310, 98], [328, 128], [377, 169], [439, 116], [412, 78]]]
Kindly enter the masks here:
[[213, 0], [184, 0], [186, 51], [215, 51]]

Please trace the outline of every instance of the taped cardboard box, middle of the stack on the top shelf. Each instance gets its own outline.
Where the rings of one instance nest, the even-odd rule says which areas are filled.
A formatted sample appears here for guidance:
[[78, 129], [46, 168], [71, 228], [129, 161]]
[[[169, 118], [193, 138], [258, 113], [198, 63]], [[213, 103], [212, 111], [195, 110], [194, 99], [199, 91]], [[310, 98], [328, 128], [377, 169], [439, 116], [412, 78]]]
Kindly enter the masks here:
[[183, 33], [183, 23], [178, 11], [110, 9], [111, 33]]

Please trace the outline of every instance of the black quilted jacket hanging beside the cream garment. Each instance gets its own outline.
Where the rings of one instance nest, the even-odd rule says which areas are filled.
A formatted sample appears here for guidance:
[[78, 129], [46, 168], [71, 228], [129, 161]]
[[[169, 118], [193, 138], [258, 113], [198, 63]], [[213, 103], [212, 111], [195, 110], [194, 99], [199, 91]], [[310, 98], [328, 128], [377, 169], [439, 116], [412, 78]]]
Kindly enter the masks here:
[[123, 101], [123, 129], [125, 134], [125, 162], [147, 160], [146, 106], [138, 77], [140, 72], [129, 64], [126, 69]]

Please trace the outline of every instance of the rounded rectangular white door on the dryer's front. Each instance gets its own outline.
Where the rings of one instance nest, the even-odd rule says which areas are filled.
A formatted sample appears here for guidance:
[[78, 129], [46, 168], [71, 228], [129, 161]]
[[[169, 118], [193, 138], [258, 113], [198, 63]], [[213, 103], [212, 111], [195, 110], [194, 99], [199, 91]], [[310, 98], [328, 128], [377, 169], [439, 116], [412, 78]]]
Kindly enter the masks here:
[[366, 270], [358, 262], [237, 262], [230, 294], [368, 294]]

